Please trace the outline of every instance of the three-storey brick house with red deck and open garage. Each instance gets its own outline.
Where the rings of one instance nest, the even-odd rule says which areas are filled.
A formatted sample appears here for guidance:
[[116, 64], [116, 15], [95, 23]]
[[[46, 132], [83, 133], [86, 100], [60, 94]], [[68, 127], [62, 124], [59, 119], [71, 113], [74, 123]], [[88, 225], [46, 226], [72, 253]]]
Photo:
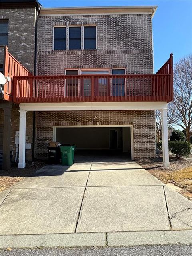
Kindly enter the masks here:
[[[12, 11], [7, 8], [12, 1], [2, 2], [1, 19], [10, 26], [10, 12], [11, 17], [18, 15], [19, 1]], [[12, 39], [21, 30], [11, 37], [8, 32], [8, 51], [32, 74], [13, 75], [6, 102], [14, 115], [14, 154], [14, 132], [20, 131], [18, 166], [25, 167], [25, 158], [46, 159], [51, 140], [76, 144], [79, 150], [116, 150], [132, 160], [153, 158], [157, 109], [162, 112], [163, 161], [168, 166], [172, 55], [153, 74], [152, 17], [157, 7], [40, 8], [36, 1], [19, 6], [25, 10], [24, 24], [30, 27], [35, 21], [36, 26], [24, 29], [22, 42]], [[35, 13], [32, 20], [28, 12]], [[4, 102], [5, 95], [6, 90]]]

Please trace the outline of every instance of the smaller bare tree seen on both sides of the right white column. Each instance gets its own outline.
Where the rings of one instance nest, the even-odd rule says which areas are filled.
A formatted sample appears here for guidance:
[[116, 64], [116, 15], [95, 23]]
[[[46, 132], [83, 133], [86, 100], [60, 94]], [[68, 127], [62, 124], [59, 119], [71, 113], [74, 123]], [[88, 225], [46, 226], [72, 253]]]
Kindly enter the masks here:
[[[168, 128], [171, 129], [172, 125], [176, 123], [177, 117], [175, 115], [176, 108], [172, 102], [168, 103], [167, 107], [167, 124]], [[162, 122], [161, 122], [161, 112], [156, 110], [155, 112], [155, 124], [156, 124], [156, 139], [159, 142], [162, 138]]]

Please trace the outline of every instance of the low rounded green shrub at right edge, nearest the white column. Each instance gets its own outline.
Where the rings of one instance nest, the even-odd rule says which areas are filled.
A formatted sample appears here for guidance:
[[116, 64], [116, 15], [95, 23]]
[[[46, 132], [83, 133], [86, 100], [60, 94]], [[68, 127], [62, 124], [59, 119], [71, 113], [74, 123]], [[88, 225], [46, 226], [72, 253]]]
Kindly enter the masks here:
[[190, 142], [186, 141], [170, 141], [169, 142], [169, 150], [176, 154], [177, 158], [181, 158], [182, 156], [188, 156], [191, 152]]

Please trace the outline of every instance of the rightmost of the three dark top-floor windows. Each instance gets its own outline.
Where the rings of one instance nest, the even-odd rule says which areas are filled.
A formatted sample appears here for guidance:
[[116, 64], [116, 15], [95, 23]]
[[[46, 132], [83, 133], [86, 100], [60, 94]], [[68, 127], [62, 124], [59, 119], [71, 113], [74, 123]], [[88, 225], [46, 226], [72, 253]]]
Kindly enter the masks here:
[[84, 27], [84, 49], [96, 49], [96, 26]]

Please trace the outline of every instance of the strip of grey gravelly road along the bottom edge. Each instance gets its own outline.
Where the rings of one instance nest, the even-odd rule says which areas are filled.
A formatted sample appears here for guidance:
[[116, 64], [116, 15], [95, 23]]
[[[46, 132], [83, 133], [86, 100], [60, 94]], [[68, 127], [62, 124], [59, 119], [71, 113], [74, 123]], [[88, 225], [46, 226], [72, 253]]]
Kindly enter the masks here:
[[107, 248], [13, 249], [2, 256], [191, 256], [192, 245], [161, 245]]

